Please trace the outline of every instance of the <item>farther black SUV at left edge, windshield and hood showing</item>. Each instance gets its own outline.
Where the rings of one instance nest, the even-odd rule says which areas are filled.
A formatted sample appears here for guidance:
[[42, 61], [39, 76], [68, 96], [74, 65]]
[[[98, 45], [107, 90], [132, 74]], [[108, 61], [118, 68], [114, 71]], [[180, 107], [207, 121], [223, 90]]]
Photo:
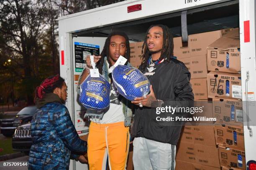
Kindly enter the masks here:
[[24, 107], [13, 118], [1, 120], [1, 133], [4, 136], [12, 136], [17, 126], [26, 124], [32, 120], [32, 116], [36, 112], [36, 106]]

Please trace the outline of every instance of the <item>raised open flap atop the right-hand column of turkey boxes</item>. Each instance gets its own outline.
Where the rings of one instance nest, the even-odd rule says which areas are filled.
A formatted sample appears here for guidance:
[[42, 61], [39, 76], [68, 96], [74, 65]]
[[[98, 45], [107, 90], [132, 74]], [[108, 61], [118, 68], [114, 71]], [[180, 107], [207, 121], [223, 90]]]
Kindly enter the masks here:
[[234, 29], [223, 37], [220, 37], [218, 40], [209, 45], [208, 48], [223, 50], [228, 48], [240, 48], [239, 29]]

